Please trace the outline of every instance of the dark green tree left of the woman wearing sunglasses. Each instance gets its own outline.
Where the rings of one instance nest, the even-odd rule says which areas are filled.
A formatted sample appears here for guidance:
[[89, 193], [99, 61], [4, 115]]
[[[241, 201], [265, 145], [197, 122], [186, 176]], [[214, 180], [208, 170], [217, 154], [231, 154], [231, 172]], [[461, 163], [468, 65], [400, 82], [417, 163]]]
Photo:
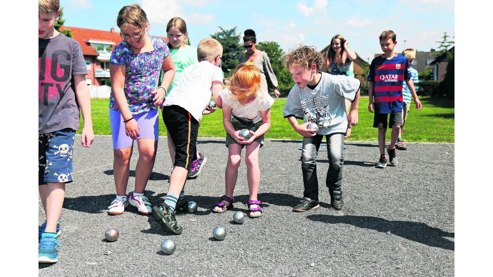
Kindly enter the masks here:
[[[225, 73], [233, 73], [235, 68], [238, 66], [238, 57], [243, 52], [242, 46], [240, 45], [240, 34], [237, 34], [236, 27], [230, 30], [225, 30], [219, 27], [221, 31], [215, 32], [211, 35], [212, 38], [216, 39], [222, 45], [222, 64], [221, 69]], [[231, 72], [228, 72], [228, 69]]]

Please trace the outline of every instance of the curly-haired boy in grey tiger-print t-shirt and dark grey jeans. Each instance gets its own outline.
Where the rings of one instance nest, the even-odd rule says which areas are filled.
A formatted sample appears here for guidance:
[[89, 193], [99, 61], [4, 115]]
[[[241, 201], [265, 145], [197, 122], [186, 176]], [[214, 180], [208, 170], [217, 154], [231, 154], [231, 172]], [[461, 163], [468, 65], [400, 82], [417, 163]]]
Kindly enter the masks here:
[[[293, 211], [316, 209], [318, 205], [317, 153], [323, 136], [327, 140], [329, 170], [326, 186], [329, 188], [330, 204], [336, 210], [344, 206], [342, 199], [343, 143], [348, 126], [358, 123], [359, 87], [361, 82], [345, 75], [319, 72], [322, 58], [314, 48], [302, 46], [284, 56], [284, 64], [296, 82], [289, 92], [282, 110], [293, 129], [303, 136], [301, 168], [305, 186], [303, 199]], [[351, 112], [346, 116], [345, 100], [352, 102]], [[349, 117], [349, 118], [348, 118]], [[304, 119], [299, 125], [296, 119]], [[318, 131], [308, 129], [317, 123]]]

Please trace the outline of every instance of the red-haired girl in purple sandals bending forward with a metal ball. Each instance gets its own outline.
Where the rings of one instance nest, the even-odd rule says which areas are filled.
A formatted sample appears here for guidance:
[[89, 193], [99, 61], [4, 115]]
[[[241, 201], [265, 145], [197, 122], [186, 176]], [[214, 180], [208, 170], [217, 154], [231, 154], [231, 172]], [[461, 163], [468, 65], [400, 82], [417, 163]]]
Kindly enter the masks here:
[[[260, 71], [255, 65], [240, 64], [230, 82], [220, 93], [223, 102], [223, 125], [229, 149], [226, 165], [226, 195], [221, 196], [212, 211], [222, 213], [233, 208], [233, 190], [238, 177], [243, 146], [246, 145], [246, 176], [250, 193], [248, 216], [259, 217], [263, 210], [257, 200], [260, 169], [258, 151], [264, 144], [264, 134], [271, 127], [270, 107], [274, 99], [261, 88]], [[242, 129], [250, 130], [251, 138], [240, 136]]]

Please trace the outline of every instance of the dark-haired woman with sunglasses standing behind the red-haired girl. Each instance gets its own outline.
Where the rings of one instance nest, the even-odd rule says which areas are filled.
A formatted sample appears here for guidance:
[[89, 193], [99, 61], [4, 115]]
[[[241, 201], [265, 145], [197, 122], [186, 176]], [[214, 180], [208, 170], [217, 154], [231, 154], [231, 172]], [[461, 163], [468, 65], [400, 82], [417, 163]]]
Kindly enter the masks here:
[[243, 47], [246, 52], [241, 54], [238, 58], [240, 64], [255, 65], [260, 70], [260, 78], [262, 79], [262, 89], [269, 91], [268, 88], [274, 89], [274, 94], [277, 98], [281, 94], [277, 90], [278, 82], [274, 71], [272, 70], [269, 57], [264, 51], [260, 51], [256, 48], [257, 38], [255, 37], [255, 31], [248, 29], [245, 31], [243, 37]]

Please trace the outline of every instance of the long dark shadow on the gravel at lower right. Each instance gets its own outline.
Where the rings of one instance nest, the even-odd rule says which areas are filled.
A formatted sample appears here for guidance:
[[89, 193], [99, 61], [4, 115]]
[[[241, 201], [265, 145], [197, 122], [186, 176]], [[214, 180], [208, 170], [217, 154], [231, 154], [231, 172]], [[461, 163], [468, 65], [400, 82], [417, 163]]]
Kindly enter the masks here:
[[307, 218], [329, 224], [351, 224], [358, 228], [373, 229], [383, 233], [390, 231], [391, 234], [407, 240], [420, 242], [432, 247], [440, 247], [446, 250], [455, 250], [455, 243], [445, 239], [445, 237], [454, 238], [455, 233], [449, 233], [439, 228], [430, 227], [421, 222], [387, 220], [375, 216], [358, 215], [333, 216], [311, 214], [308, 215]]

